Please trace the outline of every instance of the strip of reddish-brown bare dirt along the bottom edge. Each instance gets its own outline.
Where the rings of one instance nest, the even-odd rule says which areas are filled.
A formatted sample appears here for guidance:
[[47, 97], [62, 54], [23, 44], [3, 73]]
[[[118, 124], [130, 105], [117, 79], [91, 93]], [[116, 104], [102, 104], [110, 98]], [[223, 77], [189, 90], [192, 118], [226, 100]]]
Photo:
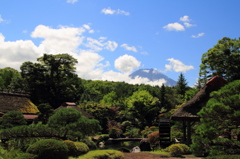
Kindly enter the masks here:
[[[159, 159], [159, 158], [168, 158], [168, 159], [180, 159], [179, 157], [171, 157], [166, 155], [160, 155], [160, 154], [152, 154], [152, 153], [124, 153], [125, 159]], [[186, 159], [201, 159], [198, 157], [190, 157], [190, 156], [184, 156]]]

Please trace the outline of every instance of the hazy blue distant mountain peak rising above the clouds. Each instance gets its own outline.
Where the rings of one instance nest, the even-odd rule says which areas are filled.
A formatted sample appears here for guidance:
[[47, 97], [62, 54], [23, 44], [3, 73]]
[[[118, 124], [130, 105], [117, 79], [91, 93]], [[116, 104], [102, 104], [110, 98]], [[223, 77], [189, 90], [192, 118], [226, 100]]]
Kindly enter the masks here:
[[165, 79], [167, 82], [165, 83], [166, 86], [176, 86], [177, 82], [173, 79], [169, 78], [168, 76], [162, 74], [160, 71], [155, 69], [139, 69], [132, 74], [129, 75], [131, 78], [135, 77], [144, 77], [148, 78], [150, 81], [156, 81], [159, 79]]

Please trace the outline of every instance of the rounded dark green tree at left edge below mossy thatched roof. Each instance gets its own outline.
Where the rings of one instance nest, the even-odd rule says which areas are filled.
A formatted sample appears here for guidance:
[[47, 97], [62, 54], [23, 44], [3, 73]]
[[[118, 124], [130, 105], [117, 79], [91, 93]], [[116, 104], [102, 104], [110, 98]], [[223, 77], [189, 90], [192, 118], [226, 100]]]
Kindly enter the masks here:
[[15, 126], [26, 125], [27, 121], [19, 111], [9, 111], [0, 120], [1, 128], [7, 129]]

